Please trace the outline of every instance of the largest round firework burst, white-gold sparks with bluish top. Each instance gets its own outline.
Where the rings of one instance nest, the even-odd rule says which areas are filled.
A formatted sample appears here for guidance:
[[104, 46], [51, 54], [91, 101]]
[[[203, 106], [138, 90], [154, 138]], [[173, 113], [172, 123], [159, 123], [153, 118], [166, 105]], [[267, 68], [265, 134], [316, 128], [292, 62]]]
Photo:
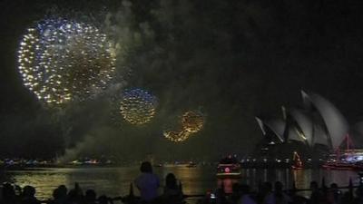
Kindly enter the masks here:
[[25, 86], [39, 100], [63, 104], [105, 88], [115, 71], [115, 54], [93, 25], [49, 19], [27, 30], [18, 63]]

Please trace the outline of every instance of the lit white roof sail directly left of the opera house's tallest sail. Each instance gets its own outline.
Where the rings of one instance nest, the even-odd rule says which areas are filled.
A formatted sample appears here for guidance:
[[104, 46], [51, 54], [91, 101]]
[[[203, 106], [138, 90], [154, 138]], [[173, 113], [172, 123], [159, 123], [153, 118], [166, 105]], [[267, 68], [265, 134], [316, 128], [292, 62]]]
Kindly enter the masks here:
[[293, 109], [289, 112], [291, 117], [296, 121], [296, 123], [299, 125], [301, 133], [303, 134], [304, 140], [308, 142], [310, 146], [313, 145], [312, 143], [312, 137], [314, 133], [314, 126], [307, 114], [304, 112], [301, 112], [297, 109]]

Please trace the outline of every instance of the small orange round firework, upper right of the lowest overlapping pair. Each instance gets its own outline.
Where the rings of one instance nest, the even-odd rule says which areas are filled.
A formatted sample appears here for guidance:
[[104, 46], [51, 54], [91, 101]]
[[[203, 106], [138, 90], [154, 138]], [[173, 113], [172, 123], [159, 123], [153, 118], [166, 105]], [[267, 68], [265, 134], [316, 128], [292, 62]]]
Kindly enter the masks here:
[[201, 112], [185, 112], [182, 114], [182, 129], [191, 133], [201, 131], [204, 117]]

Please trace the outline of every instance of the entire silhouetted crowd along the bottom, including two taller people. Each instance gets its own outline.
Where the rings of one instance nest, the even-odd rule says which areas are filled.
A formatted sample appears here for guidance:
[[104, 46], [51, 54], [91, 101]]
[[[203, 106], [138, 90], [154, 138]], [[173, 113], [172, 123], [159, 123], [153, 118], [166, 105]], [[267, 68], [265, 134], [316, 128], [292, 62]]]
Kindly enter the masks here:
[[[142, 162], [141, 175], [134, 180], [134, 184], [140, 191], [140, 197], [133, 195], [131, 186], [128, 196], [108, 198], [105, 195], [97, 197], [93, 189], [87, 189], [84, 193], [75, 183], [74, 189], [67, 189], [64, 185], [53, 191], [53, 199], [40, 201], [35, 198], [35, 189], [25, 186], [23, 189], [9, 183], [5, 183], [0, 190], [0, 204], [184, 204], [185, 196], [182, 193], [182, 184], [178, 182], [174, 174], [169, 173], [165, 178], [162, 195], [158, 194], [160, 181], [152, 173], [150, 162]], [[363, 185], [341, 191], [336, 183], [329, 187], [322, 184], [319, 187], [316, 181], [310, 183], [309, 199], [299, 196], [298, 189], [284, 190], [280, 181], [272, 185], [264, 182], [259, 185], [257, 192], [251, 192], [250, 186], [234, 183], [232, 192], [226, 193], [221, 186], [213, 192], [208, 192], [198, 199], [198, 204], [363, 204]]]

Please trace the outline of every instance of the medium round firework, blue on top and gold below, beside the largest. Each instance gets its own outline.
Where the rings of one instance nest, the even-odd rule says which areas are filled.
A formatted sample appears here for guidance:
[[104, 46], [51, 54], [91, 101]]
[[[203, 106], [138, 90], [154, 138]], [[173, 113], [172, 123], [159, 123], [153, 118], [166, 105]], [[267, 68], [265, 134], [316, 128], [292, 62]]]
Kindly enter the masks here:
[[123, 92], [120, 111], [123, 119], [132, 124], [144, 124], [152, 120], [157, 106], [156, 97], [142, 89]]

